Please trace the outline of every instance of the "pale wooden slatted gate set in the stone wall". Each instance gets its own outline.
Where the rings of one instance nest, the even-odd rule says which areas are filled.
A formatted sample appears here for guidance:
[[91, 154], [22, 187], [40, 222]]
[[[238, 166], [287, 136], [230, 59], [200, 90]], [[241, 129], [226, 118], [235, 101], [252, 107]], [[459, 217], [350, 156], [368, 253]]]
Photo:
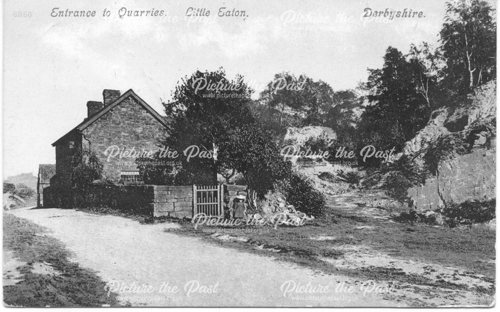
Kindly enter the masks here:
[[192, 206], [195, 214], [221, 215], [224, 185], [192, 185]]

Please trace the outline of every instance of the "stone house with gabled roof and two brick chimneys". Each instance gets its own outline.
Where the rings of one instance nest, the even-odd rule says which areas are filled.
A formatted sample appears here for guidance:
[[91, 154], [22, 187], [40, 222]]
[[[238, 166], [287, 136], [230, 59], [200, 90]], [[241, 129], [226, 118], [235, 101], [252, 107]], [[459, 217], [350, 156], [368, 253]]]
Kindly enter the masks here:
[[88, 101], [87, 116], [61, 136], [55, 147], [55, 187], [71, 187], [71, 171], [90, 153], [103, 175], [116, 182], [140, 182], [133, 156], [154, 153], [168, 128], [166, 120], [132, 89], [104, 89], [101, 101]]

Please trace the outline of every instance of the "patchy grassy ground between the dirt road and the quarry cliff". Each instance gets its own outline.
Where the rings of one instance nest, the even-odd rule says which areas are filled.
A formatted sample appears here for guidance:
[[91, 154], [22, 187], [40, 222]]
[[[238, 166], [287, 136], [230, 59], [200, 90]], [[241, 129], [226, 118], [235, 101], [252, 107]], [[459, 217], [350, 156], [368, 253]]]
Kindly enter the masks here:
[[[401, 224], [369, 217], [342, 215], [334, 211], [329, 211], [329, 215], [300, 227], [280, 226], [274, 229], [241, 226], [246, 229], [264, 228], [268, 229], [268, 232], [227, 233], [230, 236], [245, 237], [246, 240], [221, 240], [214, 237], [213, 232], [206, 231], [213, 227], [198, 226], [194, 229], [189, 221], [179, 222], [181, 228], [171, 228], [168, 231], [201, 237], [225, 247], [274, 256], [280, 260], [333, 275], [345, 274], [415, 282], [415, 276], [399, 273], [393, 269], [376, 269], [372, 273], [370, 270], [364, 270], [359, 272], [361, 273], [359, 275], [353, 270], [337, 269], [331, 263], [321, 260], [322, 257], [341, 257], [345, 252], [341, 246], [345, 245], [368, 246], [391, 256], [444, 266], [464, 267], [486, 276], [495, 274], [495, 264], [487, 261], [495, 257], [495, 232], [489, 229]], [[418, 283], [436, 285], [434, 281], [427, 279]]]

